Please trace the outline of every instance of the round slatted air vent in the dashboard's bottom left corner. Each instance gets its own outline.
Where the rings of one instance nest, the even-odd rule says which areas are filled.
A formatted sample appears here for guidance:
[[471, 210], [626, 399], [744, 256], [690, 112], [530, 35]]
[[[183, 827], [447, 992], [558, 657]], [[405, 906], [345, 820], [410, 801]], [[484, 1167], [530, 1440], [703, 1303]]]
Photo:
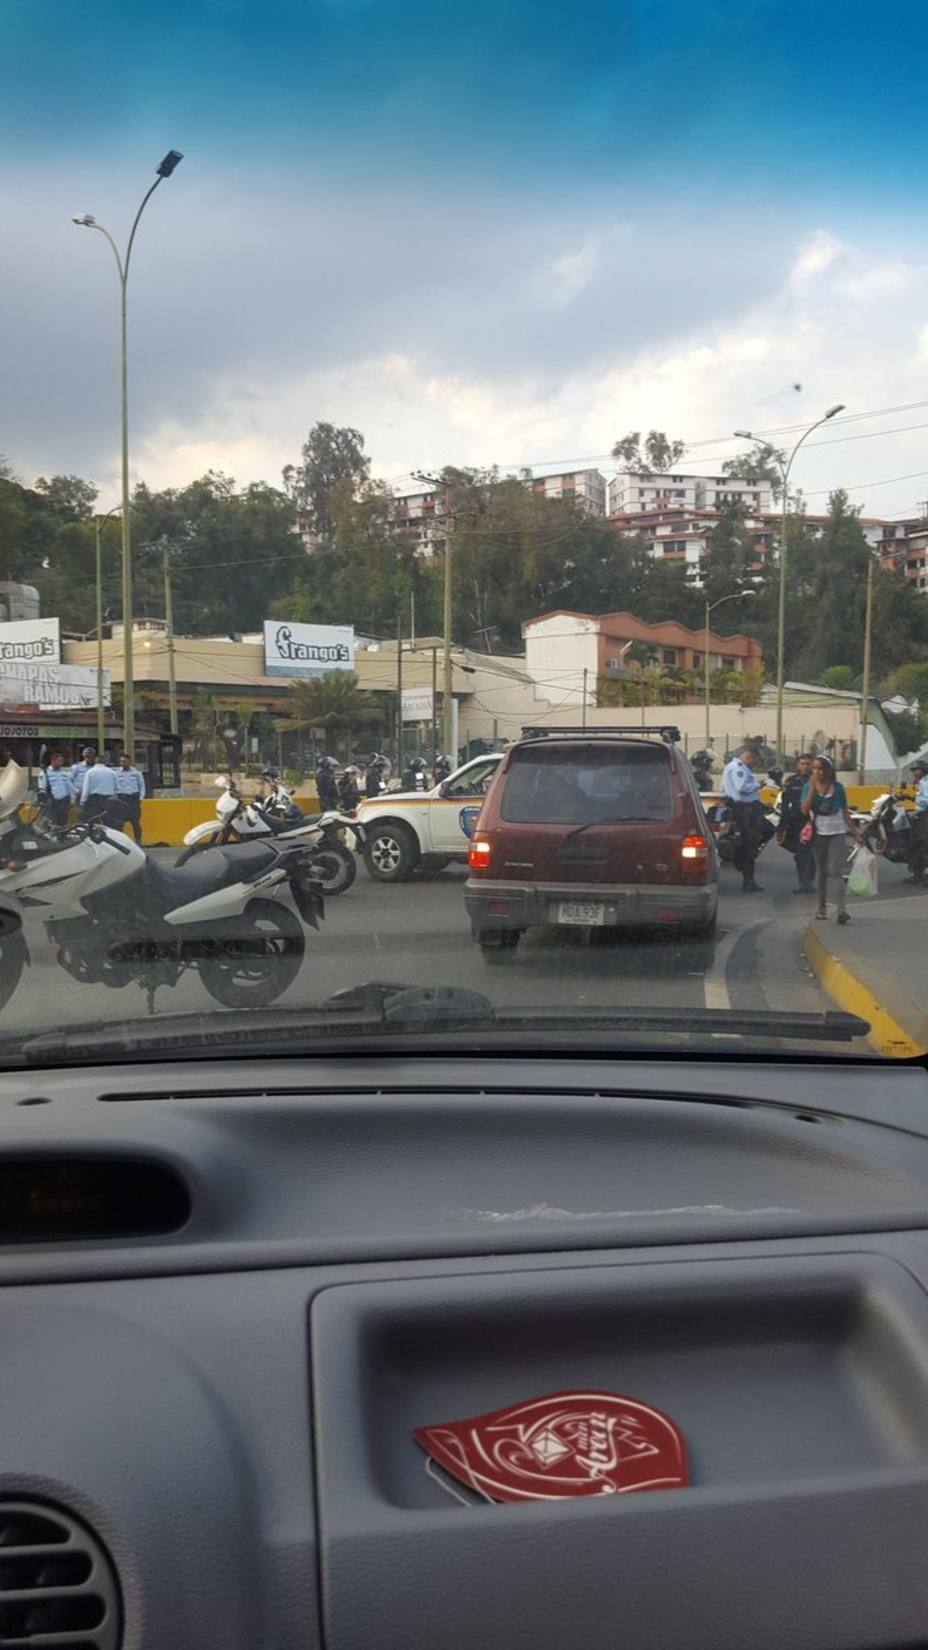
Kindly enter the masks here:
[[117, 1650], [119, 1582], [97, 1538], [41, 1502], [0, 1500], [3, 1650]]

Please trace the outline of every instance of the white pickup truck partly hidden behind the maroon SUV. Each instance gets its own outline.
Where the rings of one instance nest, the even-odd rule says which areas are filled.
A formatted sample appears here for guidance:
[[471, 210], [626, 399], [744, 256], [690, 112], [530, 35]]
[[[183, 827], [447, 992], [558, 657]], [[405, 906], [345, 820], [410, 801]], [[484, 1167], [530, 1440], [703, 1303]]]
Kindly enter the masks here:
[[433, 790], [385, 790], [358, 807], [365, 827], [365, 866], [376, 883], [405, 883], [416, 866], [441, 871], [451, 860], [467, 861], [467, 838], [459, 813], [481, 804], [502, 751], [476, 756]]

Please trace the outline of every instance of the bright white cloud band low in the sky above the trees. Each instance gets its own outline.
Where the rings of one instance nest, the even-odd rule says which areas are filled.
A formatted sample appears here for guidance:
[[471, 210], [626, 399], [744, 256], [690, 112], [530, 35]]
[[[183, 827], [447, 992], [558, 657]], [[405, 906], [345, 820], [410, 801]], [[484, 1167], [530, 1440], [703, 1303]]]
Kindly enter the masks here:
[[[814, 243], [811, 243], [814, 244]], [[226, 381], [192, 422], [162, 422], [137, 447], [137, 469], [152, 483], [182, 483], [215, 465], [239, 482], [276, 480], [296, 457], [294, 431], [315, 417], [357, 424], [381, 475], [443, 462], [502, 465], [543, 460], [599, 462], [627, 429], [660, 427], [692, 442], [700, 469], [743, 444], [735, 427], [773, 429], [812, 422], [832, 401], [849, 412], [923, 399], [928, 325], [925, 266], [893, 266], [903, 302], [887, 304], [885, 262], [842, 243], [840, 259], [796, 290], [786, 249], [779, 290], [698, 335], [652, 342], [623, 355], [603, 340], [601, 360], [552, 381], [535, 371], [443, 371], [428, 353], [372, 355], [343, 368], [274, 381]], [[794, 386], [801, 388], [796, 389]], [[926, 482], [864, 487], [928, 470], [923, 434], [893, 436], [918, 412], [824, 431], [804, 449], [798, 480], [809, 503], [837, 485], [869, 513], [911, 508]], [[845, 436], [867, 439], [837, 441]], [[786, 441], [788, 437], [783, 437]]]

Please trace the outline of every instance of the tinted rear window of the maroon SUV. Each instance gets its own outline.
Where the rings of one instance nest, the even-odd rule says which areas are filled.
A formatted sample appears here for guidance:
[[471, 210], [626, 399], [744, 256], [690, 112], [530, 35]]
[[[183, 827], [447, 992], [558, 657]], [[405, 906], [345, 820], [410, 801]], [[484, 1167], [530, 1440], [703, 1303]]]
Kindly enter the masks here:
[[621, 825], [672, 812], [667, 752], [652, 744], [515, 751], [500, 802], [500, 818], [514, 825]]

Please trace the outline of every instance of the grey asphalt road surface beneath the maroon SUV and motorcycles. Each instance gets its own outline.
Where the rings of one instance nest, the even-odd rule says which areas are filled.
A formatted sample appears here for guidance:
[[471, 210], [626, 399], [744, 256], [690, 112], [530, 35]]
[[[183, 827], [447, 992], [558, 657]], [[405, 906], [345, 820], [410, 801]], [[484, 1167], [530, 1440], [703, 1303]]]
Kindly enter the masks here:
[[[167, 850], [157, 851], [170, 856]], [[882, 866], [880, 899], [910, 893], [903, 874], [898, 866]], [[307, 931], [301, 975], [281, 1002], [315, 1006], [345, 987], [388, 980], [469, 987], [497, 1006], [616, 1003], [748, 1011], [831, 1006], [803, 952], [814, 898], [793, 894], [793, 860], [776, 843], [758, 861], [758, 876], [765, 891], [743, 894], [738, 874], [722, 871], [718, 945], [707, 972], [694, 965], [685, 945], [672, 940], [573, 931], [532, 932], [512, 967], [489, 969], [471, 940], [462, 866], [395, 888], [373, 883], [358, 868], [353, 888], [327, 901], [320, 934]], [[28, 924], [26, 937], [31, 967], [2, 1015], [2, 1031], [147, 1018], [144, 990], [81, 987], [58, 967], [41, 926]], [[175, 990], [162, 988], [155, 1000], [155, 1013], [213, 1006], [193, 970]]]

